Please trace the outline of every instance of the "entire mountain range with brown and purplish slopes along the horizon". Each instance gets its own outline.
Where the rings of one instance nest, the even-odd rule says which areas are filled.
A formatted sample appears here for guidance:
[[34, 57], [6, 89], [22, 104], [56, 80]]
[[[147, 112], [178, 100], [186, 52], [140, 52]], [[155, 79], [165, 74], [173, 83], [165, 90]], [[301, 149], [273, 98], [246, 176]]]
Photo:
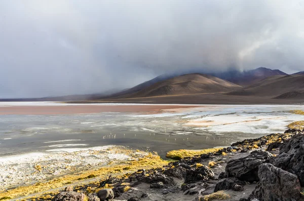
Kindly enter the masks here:
[[[188, 99], [190, 98], [190, 99]], [[164, 74], [113, 94], [69, 95], [0, 101], [82, 100], [111, 103], [303, 103], [304, 71], [288, 75], [280, 70], [257, 68], [218, 73]]]

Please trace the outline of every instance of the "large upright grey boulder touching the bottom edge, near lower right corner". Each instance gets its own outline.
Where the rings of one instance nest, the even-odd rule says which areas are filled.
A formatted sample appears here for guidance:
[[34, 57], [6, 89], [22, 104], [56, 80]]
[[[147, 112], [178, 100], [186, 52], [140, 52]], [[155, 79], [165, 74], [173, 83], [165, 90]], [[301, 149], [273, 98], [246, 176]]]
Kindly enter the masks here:
[[277, 168], [269, 163], [264, 163], [258, 169], [259, 184], [249, 197], [263, 201], [302, 201], [300, 182], [296, 175]]

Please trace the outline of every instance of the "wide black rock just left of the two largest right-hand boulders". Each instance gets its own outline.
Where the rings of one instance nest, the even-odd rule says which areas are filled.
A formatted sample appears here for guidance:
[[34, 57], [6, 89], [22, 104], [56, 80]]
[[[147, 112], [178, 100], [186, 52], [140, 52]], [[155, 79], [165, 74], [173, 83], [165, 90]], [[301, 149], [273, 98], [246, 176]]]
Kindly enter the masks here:
[[267, 162], [273, 155], [269, 152], [255, 150], [249, 156], [227, 162], [225, 172], [228, 177], [237, 177], [243, 181], [258, 181], [258, 166]]

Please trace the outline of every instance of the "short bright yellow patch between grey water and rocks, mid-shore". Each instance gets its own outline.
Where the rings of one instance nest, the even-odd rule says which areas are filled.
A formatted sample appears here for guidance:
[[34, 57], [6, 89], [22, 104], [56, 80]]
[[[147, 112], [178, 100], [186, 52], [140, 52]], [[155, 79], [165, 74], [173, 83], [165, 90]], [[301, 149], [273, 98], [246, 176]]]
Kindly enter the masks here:
[[197, 155], [215, 153], [222, 148], [207, 148], [202, 150], [188, 150], [188, 149], [179, 149], [172, 150], [167, 153], [166, 157], [174, 160], [180, 160], [186, 157], [194, 157]]

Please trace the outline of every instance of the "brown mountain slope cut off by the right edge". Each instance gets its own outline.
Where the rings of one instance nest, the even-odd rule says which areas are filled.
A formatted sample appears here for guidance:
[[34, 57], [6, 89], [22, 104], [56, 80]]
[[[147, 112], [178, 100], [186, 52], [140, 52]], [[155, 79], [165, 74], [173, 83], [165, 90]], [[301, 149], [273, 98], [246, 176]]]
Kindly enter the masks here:
[[[284, 93], [291, 91], [301, 91], [303, 89], [304, 75], [286, 75], [283, 77], [276, 76], [266, 78], [254, 85], [227, 94], [277, 97]], [[285, 95], [285, 97], [290, 96]]]

